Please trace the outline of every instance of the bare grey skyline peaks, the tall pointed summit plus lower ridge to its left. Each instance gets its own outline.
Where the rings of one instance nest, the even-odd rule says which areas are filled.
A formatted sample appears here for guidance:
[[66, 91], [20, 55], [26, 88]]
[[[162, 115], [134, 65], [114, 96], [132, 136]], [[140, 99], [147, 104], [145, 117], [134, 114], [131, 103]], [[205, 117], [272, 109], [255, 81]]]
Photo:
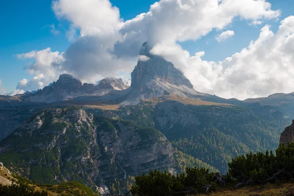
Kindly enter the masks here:
[[[174, 95], [196, 98], [203, 94], [194, 90], [192, 83], [171, 62], [152, 54], [145, 42], [140, 49], [138, 63], [131, 73], [131, 88], [121, 78], [105, 78], [98, 85], [88, 84], [64, 73], [56, 82], [36, 93], [27, 94], [31, 102], [57, 102], [68, 99], [119, 100], [122, 104], [137, 104], [142, 99]], [[89, 98], [89, 96], [92, 96]], [[98, 96], [98, 97], [93, 97]]]

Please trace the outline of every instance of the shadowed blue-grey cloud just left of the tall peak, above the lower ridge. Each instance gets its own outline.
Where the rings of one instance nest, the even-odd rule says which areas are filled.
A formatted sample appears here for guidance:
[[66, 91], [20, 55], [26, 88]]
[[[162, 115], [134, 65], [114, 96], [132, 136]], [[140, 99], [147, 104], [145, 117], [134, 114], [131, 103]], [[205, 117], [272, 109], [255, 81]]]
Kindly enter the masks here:
[[87, 82], [104, 77], [119, 77], [122, 72], [130, 73], [136, 61], [116, 58], [109, 52], [115, 37], [113, 34], [79, 37], [63, 55], [63, 70]]

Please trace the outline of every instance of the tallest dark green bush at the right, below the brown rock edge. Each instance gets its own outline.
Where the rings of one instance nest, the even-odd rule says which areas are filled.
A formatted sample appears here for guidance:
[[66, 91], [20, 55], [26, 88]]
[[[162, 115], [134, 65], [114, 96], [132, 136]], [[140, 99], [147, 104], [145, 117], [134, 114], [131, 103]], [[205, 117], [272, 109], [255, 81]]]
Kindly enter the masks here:
[[275, 155], [272, 151], [242, 155], [228, 164], [229, 174], [239, 182], [245, 179], [255, 182], [270, 182], [292, 178], [294, 173], [294, 143], [287, 147], [280, 145]]

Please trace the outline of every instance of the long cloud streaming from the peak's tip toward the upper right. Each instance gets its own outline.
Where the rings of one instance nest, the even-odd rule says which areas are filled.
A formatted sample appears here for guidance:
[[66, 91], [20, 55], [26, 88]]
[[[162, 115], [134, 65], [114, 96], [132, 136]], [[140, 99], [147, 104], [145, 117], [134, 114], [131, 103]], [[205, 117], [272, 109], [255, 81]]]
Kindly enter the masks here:
[[265, 0], [160, 0], [147, 13], [123, 23], [115, 45], [119, 57], [137, 56], [142, 43], [197, 40], [213, 29], [223, 29], [235, 17], [266, 20], [280, 16]]

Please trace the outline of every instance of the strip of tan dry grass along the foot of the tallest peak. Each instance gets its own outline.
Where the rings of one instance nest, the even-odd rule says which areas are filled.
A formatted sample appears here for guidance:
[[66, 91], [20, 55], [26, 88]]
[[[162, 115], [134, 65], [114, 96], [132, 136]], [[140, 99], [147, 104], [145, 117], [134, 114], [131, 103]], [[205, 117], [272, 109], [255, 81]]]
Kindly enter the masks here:
[[209, 102], [209, 101], [202, 101], [202, 100], [197, 100], [197, 99], [192, 99], [192, 98], [180, 98], [180, 97], [176, 97], [174, 95], [162, 96], [159, 98], [150, 98], [150, 99], [144, 100], [143, 102], [159, 103], [159, 102], [163, 102], [166, 100], [178, 101], [178, 102], [181, 102], [185, 105], [230, 105], [230, 104], [225, 104], [225, 103], [214, 103], [214, 102]]

